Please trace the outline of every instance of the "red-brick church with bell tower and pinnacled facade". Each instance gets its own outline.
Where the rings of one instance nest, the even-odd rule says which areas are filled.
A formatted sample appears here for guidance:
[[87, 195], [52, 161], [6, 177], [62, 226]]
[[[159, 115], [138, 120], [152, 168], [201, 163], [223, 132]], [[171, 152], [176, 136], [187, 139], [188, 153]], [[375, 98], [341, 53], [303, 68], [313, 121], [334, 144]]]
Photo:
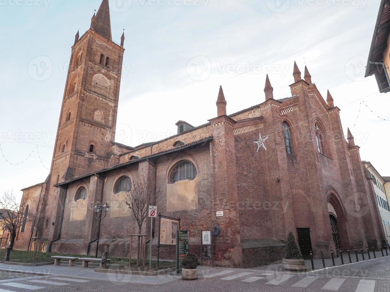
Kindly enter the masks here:
[[[289, 232], [305, 257], [384, 244], [359, 146], [349, 130], [344, 138], [340, 109], [329, 91], [324, 100], [306, 66], [302, 79], [294, 63], [289, 97], [274, 97], [267, 76], [259, 104], [227, 114], [221, 86], [208, 123], [179, 121], [177, 135], [131, 147], [114, 141], [124, 51], [124, 35], [121, 44], [112, 41], [103, 0], [90, 29], [76, 34], [50, 174], [23, 190], [37, 215], [15, 248], [27, 250], [39, 232], [46, 251], [86, 254], [96, 248], [93, 208], [107, 203], [99, 255], [109, 248], [111, 256], [128, 257], [138, 226], [124, 194], [141, 176], [161, 192], [158, 212], [181, 218], [190, 231], [191, 252], [200, 256], [201, 230], [218, 226], [216, 266], [278, 261]], [[150, 224], [145, 220], [143, 234]], [[146, 248], [152, 243], [155, 258], [158, 220], [153, 229]], [[135, 255], [135, 241], [131, 248]], [[160, 248], [161, 259], [174, 254], [174, 246]]]

